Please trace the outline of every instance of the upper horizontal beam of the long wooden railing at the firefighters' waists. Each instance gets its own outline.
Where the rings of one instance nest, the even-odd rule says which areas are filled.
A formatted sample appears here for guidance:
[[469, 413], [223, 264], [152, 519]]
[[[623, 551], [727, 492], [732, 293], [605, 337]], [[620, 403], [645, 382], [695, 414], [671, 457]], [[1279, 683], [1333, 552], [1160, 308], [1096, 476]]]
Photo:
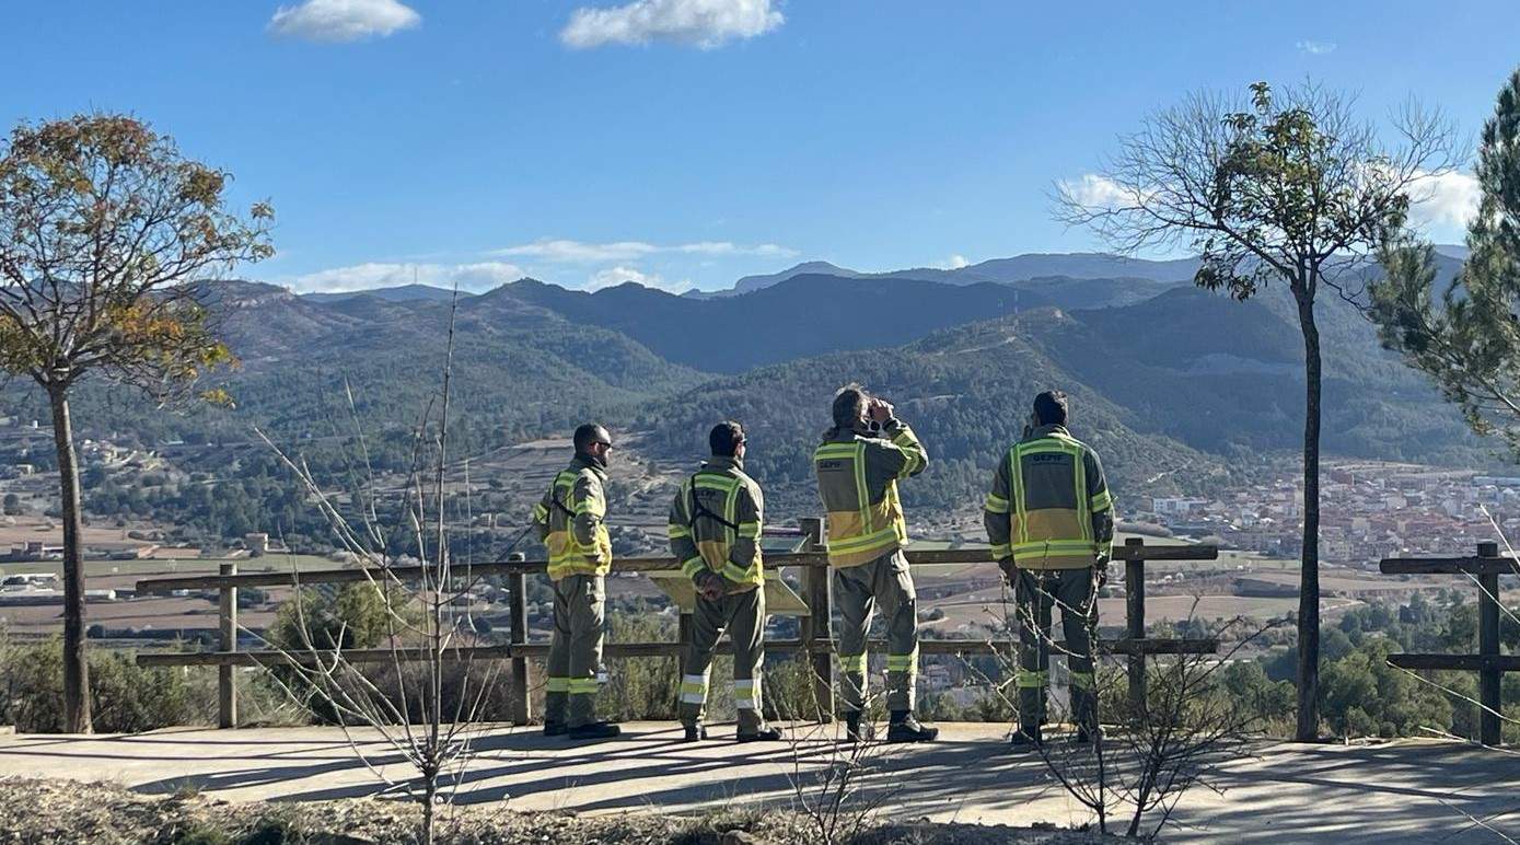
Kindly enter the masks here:
[[[1214, 546], [1114, 546], [1116, 561], [1213, 561], [1219, 558]], [[275, 558], [271, 558], [275, 559]], [[766, 564], [781, 567], [827, 567], [824, 552], [795, 552], [766, 555]], [[945, 550], [907, 552], [907, 562], [917, 567], [990, 564], [991, 550], [985, 546]], [[613, 562], [613, 571], [672, 571], [681, 564], [675, 558], [623, 558]], [[491, 574], [543, 574], [543, 561], [492, 561], [485, 564], [453, 565], [454, 578], [483, 578]], [[231, 587], [295, 587], [299, 584], [353, 584], [392, 576], [400, 581], [416, 581], [423, 567], [350, 567], [310, 571], [254, 571], [242, 574], [187, 574], [175, 578], [149, 578], [137, 582], [143, 594], [166, 594], [175, 590], [223, 590]]]

